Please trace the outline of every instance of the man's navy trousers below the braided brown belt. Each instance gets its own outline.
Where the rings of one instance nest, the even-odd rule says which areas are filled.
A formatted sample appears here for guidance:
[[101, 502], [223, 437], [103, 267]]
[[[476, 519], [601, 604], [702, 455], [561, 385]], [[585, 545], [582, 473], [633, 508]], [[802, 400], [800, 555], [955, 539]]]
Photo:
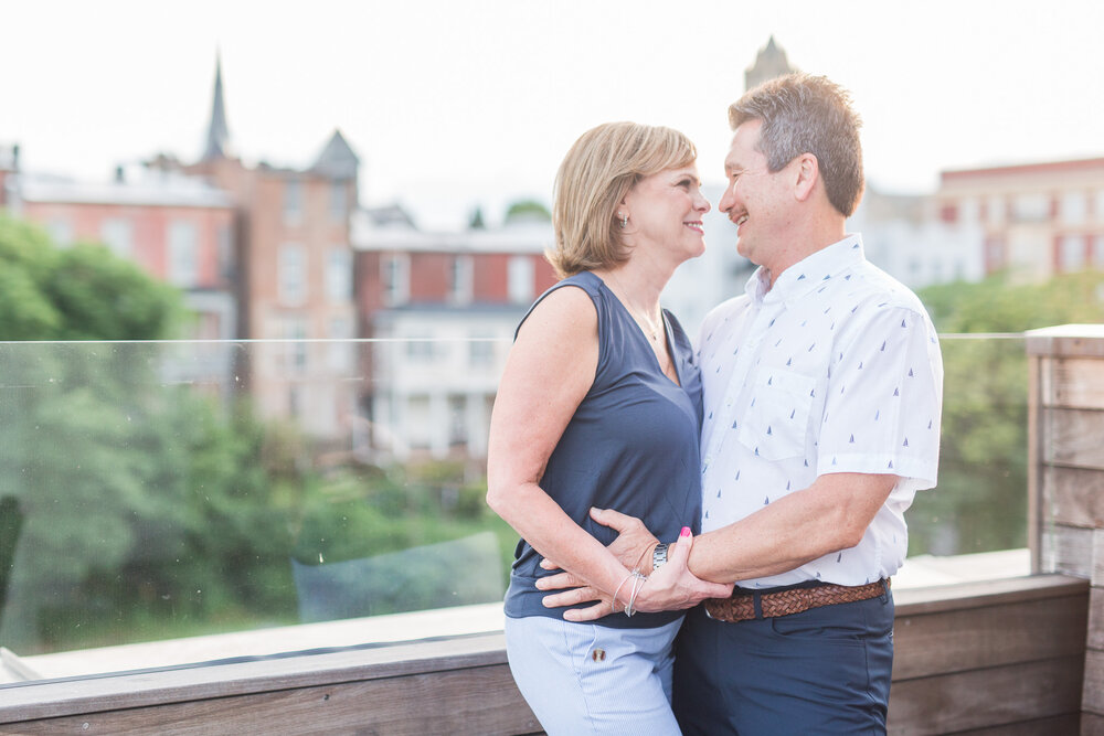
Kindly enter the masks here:
[[884, 734], [893, 596], [725, 623], [699, 606], [676, 640], [687, 736]]

